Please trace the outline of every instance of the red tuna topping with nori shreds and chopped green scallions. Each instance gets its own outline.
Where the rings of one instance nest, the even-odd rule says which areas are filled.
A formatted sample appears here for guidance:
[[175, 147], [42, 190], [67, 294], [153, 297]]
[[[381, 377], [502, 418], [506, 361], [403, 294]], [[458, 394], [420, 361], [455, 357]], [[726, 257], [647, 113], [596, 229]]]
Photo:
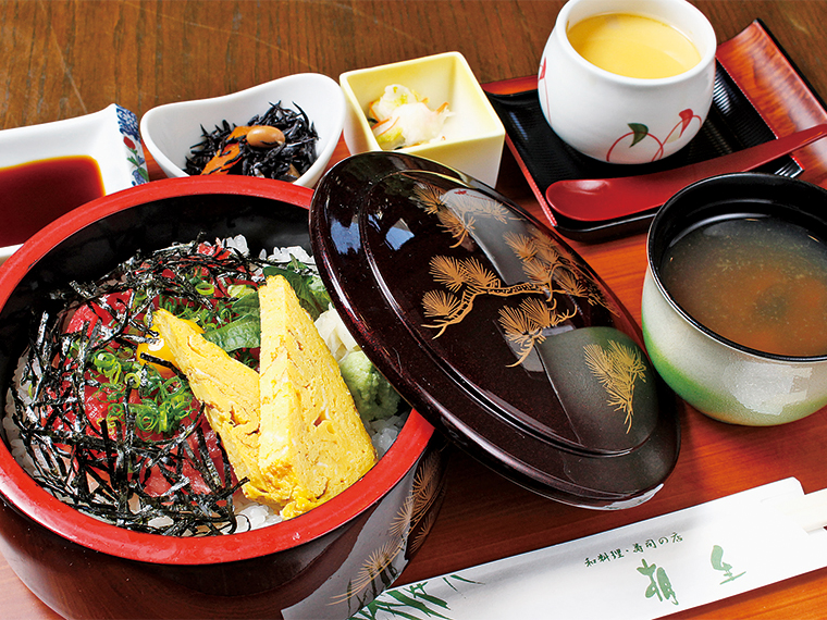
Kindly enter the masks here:
[[[292, 262], [293, 271], [307, 269]], [[284, 270], [274, 264], [194, 241], [138, 255], [96, 282], [53, 293], [63, 309], [35, 318], [11, 390], [11, 416], [38, 483], [139, 532], [236, 531], [233, 494], [245, 481], [233, 479], [186, 381], [161, 372], [171, 364], [144, 348], [157, 336], [147, 326], [157, 305], [200, 315], [217, 331], [244, 324], [248, 317], [235, 308], [258, 299], [249, 293], [264, 270]], [[151, 363], [129, 361], [139, 349]], [[256, 363], [249, 350], [238, 354]]]

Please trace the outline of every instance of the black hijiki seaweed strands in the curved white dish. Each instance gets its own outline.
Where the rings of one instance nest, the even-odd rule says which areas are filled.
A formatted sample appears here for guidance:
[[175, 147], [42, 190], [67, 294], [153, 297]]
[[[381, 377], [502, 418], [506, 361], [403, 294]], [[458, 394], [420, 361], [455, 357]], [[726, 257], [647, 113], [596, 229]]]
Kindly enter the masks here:
[[[240, 138], [240, 152], [229, 174], [295, 181], [316, 161], [319, 136], [314, 125], [298, 106], [292, 110], [282, 107], [281, 102], [271, 103], [264, 114], [252, 116], [247, 125], [277, 127], [284, 134], [285, 142], [272, 148], [256, 148]], [[212, 132], [207, 132], [201, 125], [202, 139], [192, 147], [192, 157], [186, 158], [184, 171], [190, 175], [201, 174], [207, 163], [227, 145], [227, 138], [235, 127], [226, 120], [221, 125], [215, 125]]]

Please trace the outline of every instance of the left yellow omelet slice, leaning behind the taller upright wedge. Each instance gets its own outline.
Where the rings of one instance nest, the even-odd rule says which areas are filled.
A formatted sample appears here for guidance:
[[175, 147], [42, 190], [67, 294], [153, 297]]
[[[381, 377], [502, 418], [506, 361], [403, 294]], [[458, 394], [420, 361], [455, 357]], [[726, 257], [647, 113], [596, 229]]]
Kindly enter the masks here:
[[195, 397], [205, 405], [207, 420], [221, 437], [236, 476], [248, 479], [244, 494], [280, 507], [270, 497], [258, 464], [259, 374], [207, 340], [193, 323], [166, 310], [153, 313], [152, 328], [169, 347]]

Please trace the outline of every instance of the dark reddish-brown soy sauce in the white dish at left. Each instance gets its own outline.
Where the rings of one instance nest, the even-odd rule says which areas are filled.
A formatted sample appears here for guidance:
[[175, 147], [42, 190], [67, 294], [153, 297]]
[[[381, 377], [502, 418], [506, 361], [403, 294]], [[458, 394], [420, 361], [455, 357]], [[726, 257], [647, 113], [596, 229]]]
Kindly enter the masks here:
[[53, 220], [103, 194], [98, 163], [87, 156], [0, 169], [0, 247], [24, 243]]

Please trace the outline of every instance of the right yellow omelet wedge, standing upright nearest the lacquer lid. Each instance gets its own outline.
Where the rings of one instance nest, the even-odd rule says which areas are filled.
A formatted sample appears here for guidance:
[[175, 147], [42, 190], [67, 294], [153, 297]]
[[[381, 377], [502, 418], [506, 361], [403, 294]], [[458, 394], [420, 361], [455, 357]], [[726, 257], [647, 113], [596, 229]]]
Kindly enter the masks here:
[[289, 283], [259, 289], [261, 433], [258, 466], [292, 518], [334, 497], [377, 455], [338, 364]]

